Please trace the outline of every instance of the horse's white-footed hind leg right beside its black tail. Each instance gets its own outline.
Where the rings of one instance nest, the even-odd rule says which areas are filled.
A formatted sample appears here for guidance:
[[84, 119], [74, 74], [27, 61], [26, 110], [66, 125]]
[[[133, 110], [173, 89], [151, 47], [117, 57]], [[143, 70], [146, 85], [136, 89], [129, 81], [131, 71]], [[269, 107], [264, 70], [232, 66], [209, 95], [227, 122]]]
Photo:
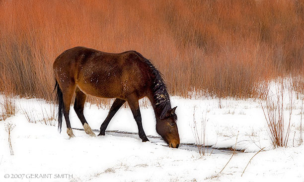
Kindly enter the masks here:
[[67, 87], [64, 87], [62, 89], [62, 93], [63, 93], [63, 101], [64, 101], [64, 107], [63, 107], [63, 113], [64, 113], [64, 117], [67, 123], [67, 133], [70, 136], [70, 138], [75, 137], [75, 135], [73, 134], [72, 128], [71, 128], [71, 123], [70, 123], [70, 119], [69, 119], [69, 114], [70, 114], [70, 106], [71, 106], [71, 102], [72, 102], [72, 97], [74, 94], [74, 90], [75, 90], [75, 83], [71, 83], [68, 84]]

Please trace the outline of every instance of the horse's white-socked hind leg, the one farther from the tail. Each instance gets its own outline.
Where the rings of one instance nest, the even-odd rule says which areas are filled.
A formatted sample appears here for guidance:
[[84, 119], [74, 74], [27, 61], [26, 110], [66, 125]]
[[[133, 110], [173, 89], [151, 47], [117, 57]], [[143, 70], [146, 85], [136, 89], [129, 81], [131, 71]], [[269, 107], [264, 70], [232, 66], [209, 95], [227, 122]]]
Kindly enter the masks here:
[[80, 89], [77, 87], [76, 91], [75, 91], [74, 110], [83, 125], [85, 133], [90, 136], [96, 136], [95, 133], [93, 133], [91, 127], [86, 122], [84, 115], [83, 115], [85, 99], [86, 99], [86, 95], [83, 92], [81, 92]]

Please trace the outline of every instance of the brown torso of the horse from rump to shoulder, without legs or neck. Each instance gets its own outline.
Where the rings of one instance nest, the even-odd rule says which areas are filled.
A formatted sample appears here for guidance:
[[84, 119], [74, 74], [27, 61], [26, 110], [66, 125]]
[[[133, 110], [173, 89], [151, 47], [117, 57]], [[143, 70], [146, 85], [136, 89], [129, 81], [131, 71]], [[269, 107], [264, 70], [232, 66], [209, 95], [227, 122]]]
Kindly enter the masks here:
[[63, 52], [53, 69], [57, 80], [72, 80], [82, 92], [97, 97], [144, 97], [149, 82], [147, 65], [135, 51], [114, 54], [75, 47]]

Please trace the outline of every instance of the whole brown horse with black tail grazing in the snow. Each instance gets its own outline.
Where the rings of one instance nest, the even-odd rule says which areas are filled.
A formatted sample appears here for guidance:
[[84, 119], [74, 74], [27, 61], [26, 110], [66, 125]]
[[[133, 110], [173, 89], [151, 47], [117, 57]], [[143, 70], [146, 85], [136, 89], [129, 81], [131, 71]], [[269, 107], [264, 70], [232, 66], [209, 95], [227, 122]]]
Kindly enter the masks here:
[[99, 135], [105, 135], [109, 122], [127, 101], [137, 123], [139, 137], [143, 142], [149, 141], [143, 129], [138, 102], [147, 96], [154, 109], [157, 133], [170, 147], [178, 148], [180, 140], [176, 125], [176, 107], [171, 109], [169, 94], [161, 73], [140, 53], [127, 51], [112, 54], [75, 47], [56, 58], [53, 70], [59, 105], [58, 128], [61, 130], [63, 114], [70, 137], [74, 137], [69, 112], [75, 92], [74, 109], [87, 134], [95, 135], [83, 116], [86, 95], [92, 95], [116, 98], [107, 118], [100, 126]]

